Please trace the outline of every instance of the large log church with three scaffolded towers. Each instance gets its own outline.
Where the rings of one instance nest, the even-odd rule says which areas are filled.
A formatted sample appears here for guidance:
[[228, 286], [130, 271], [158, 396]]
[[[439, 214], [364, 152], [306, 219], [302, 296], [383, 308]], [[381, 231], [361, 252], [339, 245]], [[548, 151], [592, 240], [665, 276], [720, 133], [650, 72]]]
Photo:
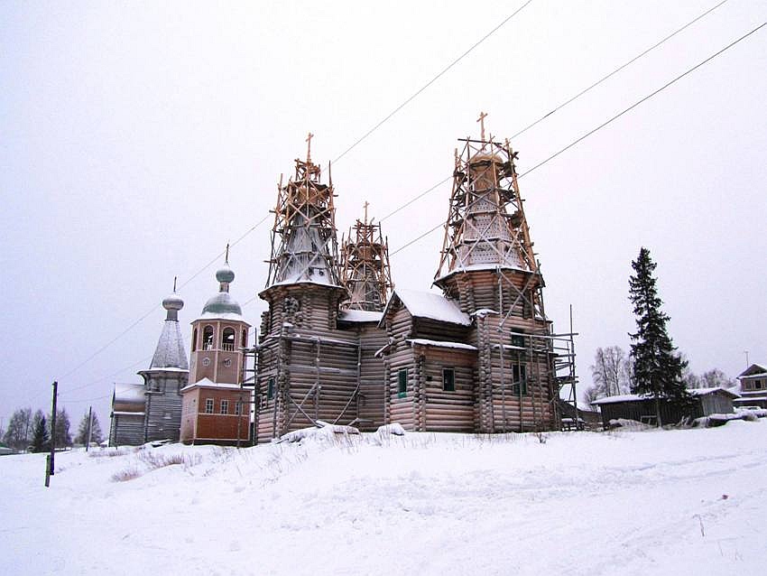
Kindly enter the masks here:
[[[523, 432], [561, 426], [571, 334], [543, 307], [508, 141], [461, 140], [434, 285], [393, 290], [380, 225], [357, 220], [338, 256], [332, 180], [295, 161], [281, 180], [256, 347], [257, 441], [317, 423], [374, 430]], [[311, 135], [308, 139], [309, 143]]]

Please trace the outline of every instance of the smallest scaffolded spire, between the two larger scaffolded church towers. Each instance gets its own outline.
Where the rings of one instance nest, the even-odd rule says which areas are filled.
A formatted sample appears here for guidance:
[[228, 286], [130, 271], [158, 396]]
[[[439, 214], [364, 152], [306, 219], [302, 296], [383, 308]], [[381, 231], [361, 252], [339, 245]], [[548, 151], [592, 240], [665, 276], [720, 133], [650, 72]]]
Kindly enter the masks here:
[[341, 239], [341, 283], [349, 292], [341, 306], [347, 310], [382, 311], [393, 290], [388, 238], [380, 223], [368, 221], [368, 206], [365, 202], [365, 221], [357, 219]]

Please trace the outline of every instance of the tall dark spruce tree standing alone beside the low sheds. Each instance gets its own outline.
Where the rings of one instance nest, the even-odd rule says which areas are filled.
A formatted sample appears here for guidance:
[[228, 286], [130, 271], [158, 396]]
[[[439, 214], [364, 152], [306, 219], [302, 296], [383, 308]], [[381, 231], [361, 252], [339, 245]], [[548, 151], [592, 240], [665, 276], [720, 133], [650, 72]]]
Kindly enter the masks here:
[[639, 257], [632, 262], [634, 275], [629, 278], [629, 300], [633, 303], [637, 331], [630, 334], [633, 359], [632, 393], [655, 398], [657, 425], [661, 425], [660, 398], [672, 402], [687, 402], [689, 395], [682, 381], [687, 361], [675, 353], [666, 322], [669, 316], [661, 311], [661, 298], [653, 277], [657, 264], [650, 250], [642, 246]]

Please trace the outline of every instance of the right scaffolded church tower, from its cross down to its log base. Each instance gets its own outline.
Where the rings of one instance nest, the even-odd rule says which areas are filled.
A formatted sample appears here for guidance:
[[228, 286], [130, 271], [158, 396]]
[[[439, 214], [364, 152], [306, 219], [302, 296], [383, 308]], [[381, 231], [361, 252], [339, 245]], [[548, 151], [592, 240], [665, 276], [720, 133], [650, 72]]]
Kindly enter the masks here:
[[[480, 138], [459, 139], [463, 147], [455, 151], [435, 284], [467, 313], [498, 315], [477, 344], [483, 429], [560, 428], [568, 404], [577, 408], [574, 335], [553, 333], [546, 316], [517, 153], [508, 140], [485, 137], [485, 116], [477, 120]], [[560, 400], [565, 389], [570, 398]]]

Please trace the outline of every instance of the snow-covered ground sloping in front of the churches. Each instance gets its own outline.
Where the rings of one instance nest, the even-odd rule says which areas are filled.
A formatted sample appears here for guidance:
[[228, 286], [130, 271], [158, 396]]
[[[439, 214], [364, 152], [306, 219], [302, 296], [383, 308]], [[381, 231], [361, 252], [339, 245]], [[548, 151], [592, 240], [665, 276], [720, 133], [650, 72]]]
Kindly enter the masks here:
[[5, 456], [0, 573], [767, 571], [767, 419], [544, 440], [71, 451], [48, 489]]

